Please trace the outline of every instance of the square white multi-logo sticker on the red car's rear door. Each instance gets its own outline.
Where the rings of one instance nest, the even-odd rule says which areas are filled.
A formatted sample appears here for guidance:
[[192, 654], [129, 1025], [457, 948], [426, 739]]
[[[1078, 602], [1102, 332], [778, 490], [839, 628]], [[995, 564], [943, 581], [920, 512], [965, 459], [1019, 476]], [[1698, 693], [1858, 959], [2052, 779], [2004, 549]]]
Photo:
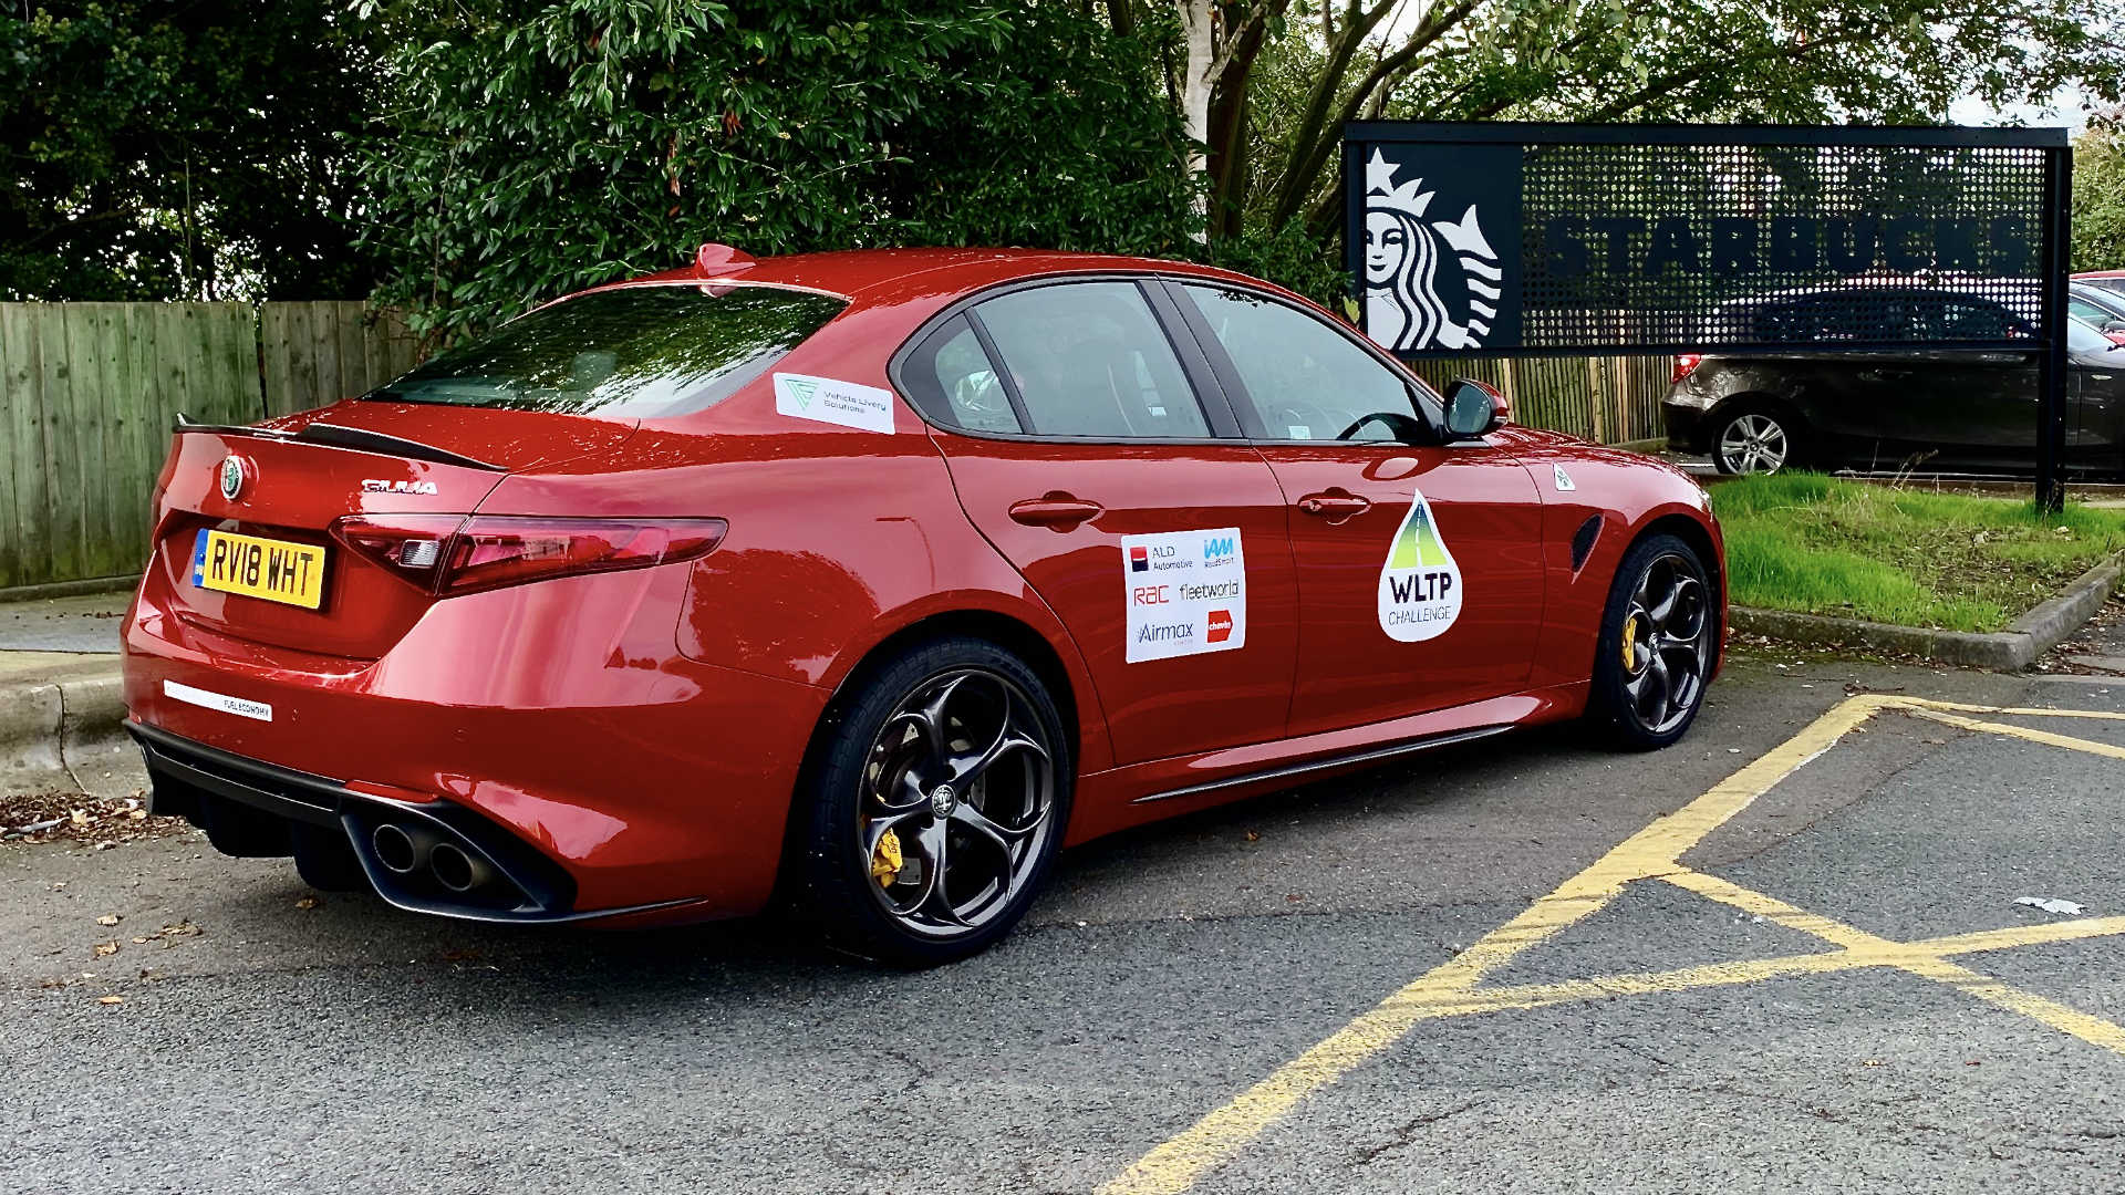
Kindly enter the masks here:
[[1173, 659], [1247, 644], [1247, 559], [1239, 527], [1122, 536], [1124, 659]]

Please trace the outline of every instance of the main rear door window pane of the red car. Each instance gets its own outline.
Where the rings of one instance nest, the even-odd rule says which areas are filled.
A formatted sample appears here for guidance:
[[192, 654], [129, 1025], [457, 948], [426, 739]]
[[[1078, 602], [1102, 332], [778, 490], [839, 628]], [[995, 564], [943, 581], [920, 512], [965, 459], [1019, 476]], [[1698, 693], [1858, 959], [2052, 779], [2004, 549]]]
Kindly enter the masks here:
[[[1060, 283], [973, 308], [1035, 436], [1207, 438], [1173, 342], [1135, 283]], [[941, 355], [941, 353], [939, 353]]]

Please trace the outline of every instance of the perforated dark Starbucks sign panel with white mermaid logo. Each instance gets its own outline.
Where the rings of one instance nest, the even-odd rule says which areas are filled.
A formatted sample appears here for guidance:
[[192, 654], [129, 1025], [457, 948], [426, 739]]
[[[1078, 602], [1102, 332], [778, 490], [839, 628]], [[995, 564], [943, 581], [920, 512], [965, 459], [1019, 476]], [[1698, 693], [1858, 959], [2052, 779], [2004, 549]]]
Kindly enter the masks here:
[[2040, 349], [2061, 130], [1345, 130], [1364, 330], [1402, 355]]

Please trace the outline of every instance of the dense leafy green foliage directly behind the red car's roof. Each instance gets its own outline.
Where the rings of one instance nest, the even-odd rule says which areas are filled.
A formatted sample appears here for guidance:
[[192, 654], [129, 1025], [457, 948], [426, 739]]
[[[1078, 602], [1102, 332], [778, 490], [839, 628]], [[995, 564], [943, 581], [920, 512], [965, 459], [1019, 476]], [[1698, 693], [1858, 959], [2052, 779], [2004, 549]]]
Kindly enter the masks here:
[[423, 11], [389, 62], [368, 245], [431, 332], [703, 240], [1171, 253], [1192, 232], [1152, 45], [1069, 4]]

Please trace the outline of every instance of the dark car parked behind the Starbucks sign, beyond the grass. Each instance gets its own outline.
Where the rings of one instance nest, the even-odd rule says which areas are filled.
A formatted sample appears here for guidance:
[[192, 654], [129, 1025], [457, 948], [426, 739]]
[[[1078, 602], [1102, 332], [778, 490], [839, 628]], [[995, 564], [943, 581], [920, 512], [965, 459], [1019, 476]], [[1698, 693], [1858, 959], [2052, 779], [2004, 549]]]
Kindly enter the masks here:
[[[2012, 340], [2034, 336], [2006, 306], [1966, 293], [1838, 289], [1751, 300], [1766, 340]], [[1838, 310], [1847, 304], [1844, 310]], [[1866, 319], [1896, 321], [1868, 334]], [[1813, 315], [1810, 315], [1813, 313]], [[1810, 321], [1825, 332], [1808, 336]], [[1908, 323], [1906, 323], [1908, 321]], [[1779, 327], [1794, 336], [1776, 334]], [[1910, 327], [1912, 332], [1902, 332]], [[2068, 321], [2066, 459], [2125, 472], [2125, 347]], [[1802, 468], [2025, 472], [2036, 466], [2036, 351], [1794, 351], [1677, 357], [1668, 444], [1719, 472]]]

